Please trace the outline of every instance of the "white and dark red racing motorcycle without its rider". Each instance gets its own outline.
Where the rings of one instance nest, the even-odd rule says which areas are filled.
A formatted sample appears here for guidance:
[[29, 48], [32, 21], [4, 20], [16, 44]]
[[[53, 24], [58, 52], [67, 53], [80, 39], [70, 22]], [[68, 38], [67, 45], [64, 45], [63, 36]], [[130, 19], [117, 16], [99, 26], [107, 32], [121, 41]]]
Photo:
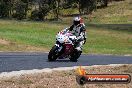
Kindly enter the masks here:
[[56, 35], [56, 44], [52, 47], [48, 55], [48, 61], [69, 58], [72, 62], [77, 62], [81, 51], [75, 49], [77, 37], [70, 32], [61, 31]]

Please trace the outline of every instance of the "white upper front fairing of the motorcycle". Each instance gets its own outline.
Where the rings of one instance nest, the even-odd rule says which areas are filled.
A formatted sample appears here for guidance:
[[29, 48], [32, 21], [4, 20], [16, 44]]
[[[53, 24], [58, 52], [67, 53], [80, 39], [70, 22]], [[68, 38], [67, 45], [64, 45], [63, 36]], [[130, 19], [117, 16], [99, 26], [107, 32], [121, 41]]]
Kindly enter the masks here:
[[76, 36], [72, 35], [70, 32], [64, 33], [64, 31], [61, 31], [56, 35], [56, 39], [60, 43], [70, 43], [70, 44], [72, 44], [71, 40], [75, 40], [77, 38], [76, 38]]

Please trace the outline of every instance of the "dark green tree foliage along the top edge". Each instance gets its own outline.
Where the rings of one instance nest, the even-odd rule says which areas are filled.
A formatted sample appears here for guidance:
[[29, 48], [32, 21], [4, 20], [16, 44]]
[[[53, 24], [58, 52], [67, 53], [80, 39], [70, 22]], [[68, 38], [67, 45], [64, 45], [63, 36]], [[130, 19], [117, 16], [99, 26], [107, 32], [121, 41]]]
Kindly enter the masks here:
[[69, 8], [78, 9], [78, 14], [91, 14], [96, 9], [97, 2], [102, 6], [108, 4], [108, 0], [1, 0], [0, 17], [22, 20], [30, 12], [33, 20], [44, 20], [49, 13], [59, 19], [61, 10]]

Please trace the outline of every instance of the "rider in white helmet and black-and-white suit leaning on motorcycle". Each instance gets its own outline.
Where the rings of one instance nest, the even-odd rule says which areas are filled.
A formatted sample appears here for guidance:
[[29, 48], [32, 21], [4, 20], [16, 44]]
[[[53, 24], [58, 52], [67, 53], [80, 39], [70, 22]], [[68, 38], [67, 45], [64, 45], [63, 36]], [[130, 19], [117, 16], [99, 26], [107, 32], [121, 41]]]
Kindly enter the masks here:
[[82, 46], [86, 42], [86, 29], [81, 17], [75, 17], [73, 24], [66, 28], [64, 31], [70, 31], [73, 35], [77, 37], [77, 46], [75, 49], [82, 52]]

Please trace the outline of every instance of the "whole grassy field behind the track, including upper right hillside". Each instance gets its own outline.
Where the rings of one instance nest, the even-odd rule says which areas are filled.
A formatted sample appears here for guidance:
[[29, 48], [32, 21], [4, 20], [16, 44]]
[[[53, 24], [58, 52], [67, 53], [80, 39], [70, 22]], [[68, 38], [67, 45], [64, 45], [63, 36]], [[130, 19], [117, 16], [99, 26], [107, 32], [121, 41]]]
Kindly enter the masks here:
[[[98, 9], [91, 21], [87, 15], [83, 16], [88, 37], [83, 53], [132, 54], [132, 7], [128, 1], [113, 2], [108, 8]], [[72, 24], [72, 19], [65, 17], [54, 22], [0, 20], [0, 39], [9, 41], [9, 44], [0, 43], [0, 51], [49, 51], [56, 33]]]

